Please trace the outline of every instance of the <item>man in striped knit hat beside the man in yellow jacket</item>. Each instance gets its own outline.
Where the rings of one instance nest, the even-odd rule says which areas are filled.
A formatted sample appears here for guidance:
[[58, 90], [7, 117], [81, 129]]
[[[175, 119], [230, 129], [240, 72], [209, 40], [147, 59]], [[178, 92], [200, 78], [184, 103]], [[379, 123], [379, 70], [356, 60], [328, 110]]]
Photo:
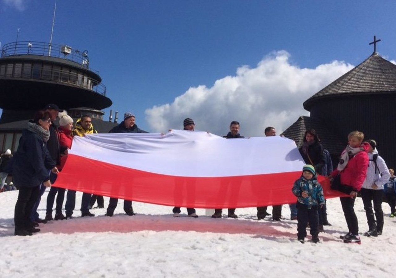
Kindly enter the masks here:
[[[110, 129], [109, 133], [147, 133], [142, 129], [139, 129], [135, 124], [135, 115], [130, 112], [124, 114], [124, 120], [118, 126]], [[116, 209], [118, 198], [110, 198], [109, 206], [107, 207], [106, 216], [113, 216], [114, 209]], [[133, 216], [135, 213], [132, 208], [132, 201], [124, 200], [124, 211], [127, 215]]]

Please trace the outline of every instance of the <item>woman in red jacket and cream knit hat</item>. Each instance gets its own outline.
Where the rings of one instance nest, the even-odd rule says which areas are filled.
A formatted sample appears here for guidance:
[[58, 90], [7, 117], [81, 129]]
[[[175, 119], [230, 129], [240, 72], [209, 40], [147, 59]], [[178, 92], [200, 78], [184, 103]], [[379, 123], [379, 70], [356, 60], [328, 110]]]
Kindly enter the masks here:
[[[58, 166], [59, 171], [62, 170], [63, 166], [65, 165], [66, 158], [67, 158], [67, 149], [70, 149], [72, 146], [72, 129], [73, 129], [73, 119], [69, 115], [63, 115], [59, 119], [59, 128], [57, 129], [58, 132], [58, 139], [59, 139], [59, 149], [61, 152], [61, 162]], [[59, 188], [54, 185], [49, 190], [47, 196], [47, 211], [46, 211], [46, 220], [50, 221], [53, 220], [52, 218], [52, 208], [53, 203], [55, 201], [55, 195], [58, 193], [56, 198], [56, 207], [55, 207], [55, 220], [63, 220], [66, 219], [62, 213], [63, 207], [63, 200], [65, 199], [65, 189]]]

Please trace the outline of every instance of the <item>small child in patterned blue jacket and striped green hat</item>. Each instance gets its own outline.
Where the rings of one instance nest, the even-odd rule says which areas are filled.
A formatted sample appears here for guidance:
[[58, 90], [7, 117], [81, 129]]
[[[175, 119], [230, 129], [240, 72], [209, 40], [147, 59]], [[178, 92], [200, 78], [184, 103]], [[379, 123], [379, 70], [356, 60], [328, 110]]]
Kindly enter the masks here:
[[297, 197], [298, 240], [304, 243], [304, 238], [307, 236], [307, 225], [309, 221], [312, 242], [318, 243], [318, 207], [323, 206], [325, 202], [322, 186], [316, 180], [314, 166], [308, 164], [303, 167], [303, 174], [294, 182], [292, 191]]

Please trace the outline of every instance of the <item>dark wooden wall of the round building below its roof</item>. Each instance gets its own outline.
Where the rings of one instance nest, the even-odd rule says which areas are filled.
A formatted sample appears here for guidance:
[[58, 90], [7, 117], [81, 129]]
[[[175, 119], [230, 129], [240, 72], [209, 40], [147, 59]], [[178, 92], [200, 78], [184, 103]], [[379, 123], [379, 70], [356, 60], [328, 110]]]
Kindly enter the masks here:
[[322, 99], [311, 109], [311, 116], [322, 119], [335, 130], [341, 142], [350, 131], [359, 130], [365, 140], [377, 142], [379, 154], [389, 168], [396, 167], [396, 95], [375, 94]]

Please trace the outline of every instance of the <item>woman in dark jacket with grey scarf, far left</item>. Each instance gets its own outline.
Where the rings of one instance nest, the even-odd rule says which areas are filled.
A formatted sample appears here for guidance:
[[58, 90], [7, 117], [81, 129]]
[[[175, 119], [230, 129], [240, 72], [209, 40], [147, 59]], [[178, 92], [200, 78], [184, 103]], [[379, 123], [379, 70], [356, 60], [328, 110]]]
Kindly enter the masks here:
[[40, 184], [51, 186], [48, 170], [59, 173], [46, 145], [50, 125], [49, 112], [37, 111], [34, 119], [28, 122], [27, 129], [22, 131], [18, 150], [14, 155], [13, 182], [19, 187], [14, 215], [16, 236], [31, 236], [32, 232], [40, 231], [30, 221], [30, 213], [40, 192]]

